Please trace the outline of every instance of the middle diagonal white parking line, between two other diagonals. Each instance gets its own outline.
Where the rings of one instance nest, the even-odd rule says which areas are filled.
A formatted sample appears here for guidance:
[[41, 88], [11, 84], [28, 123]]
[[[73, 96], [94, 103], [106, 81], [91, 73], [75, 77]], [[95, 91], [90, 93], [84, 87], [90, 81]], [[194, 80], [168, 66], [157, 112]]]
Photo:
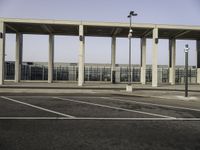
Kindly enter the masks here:
[[156, 117], [175, 118], [175, 117], [170, 117], [170, 116], [165, 116], [165, 115], [160, 115], [160, 114], [154, 114], [154, 113], [148, 113], [148, 112], [143, 112], [143, 111], [125, 109], [125, 108], [120, 108], [120, 107], [114, 107], [114, 106], [96, 104], [96, 103], [91, 103], [91, 102], [84, 102], [84, 101], [67, 99], [67, 98], [60, 98], [60, 97], [53, 97], [53, 98], [59, 99], [59, 100], [71, 101], [71, 102], [75, 102], [75, 103], [82, 103], [82, 104], [87, 104], [87, 105], [93, 105], [93, 106], [98, 106], [98, 107], [103, 107], [103, 108], [116, 109], [116, 110], [122, 110], [122, 111], [127, 111], [127, 112], [134, 112], [134, 113], [139, 113], [139, 114], [156, 116]]

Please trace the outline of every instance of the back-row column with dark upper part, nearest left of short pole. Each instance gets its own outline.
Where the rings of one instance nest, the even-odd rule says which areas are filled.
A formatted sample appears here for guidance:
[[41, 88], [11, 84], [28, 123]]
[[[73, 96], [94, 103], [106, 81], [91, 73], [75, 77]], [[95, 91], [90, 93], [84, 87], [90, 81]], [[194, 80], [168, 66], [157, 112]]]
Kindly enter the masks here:
[[176, 76], [176, 39], [169, 40], [169, 83], [175, 84]]

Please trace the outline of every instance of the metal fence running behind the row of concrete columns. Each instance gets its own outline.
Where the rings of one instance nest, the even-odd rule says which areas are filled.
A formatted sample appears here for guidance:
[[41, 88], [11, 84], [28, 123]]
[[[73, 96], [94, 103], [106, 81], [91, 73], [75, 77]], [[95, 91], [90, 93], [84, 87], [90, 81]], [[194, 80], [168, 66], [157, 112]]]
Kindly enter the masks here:
[[[26, 63], [22, 65], [22, 80], [48, 80], [48, 67], [46, 65]], [[111, 81], [111, 67], [102, 65], [85, 66], [85, 81]], [[140, 82], [140, 67], [132, 67], [132, 82]], [[190, 67], [188, 71], [188, 82], [196, 83], [197, 69]], [[15, 63], [5, 63], [5, 79], [14, 80]], [[128, 67], [118, 66], [115, 71], [116, 82], [128, 82]], [[183, 67], [176, 67], [176, 84], [183, 84], [185, 70]], [[53, 69], [53, 80], [55, 81], [77, 81], [78, 66], [55, 66]], [[146, 69], [146, 82], [152, 82], [152, 69]], [[167, 67], [158, 67], [158, 82], [169, 83], [169, 69]]]

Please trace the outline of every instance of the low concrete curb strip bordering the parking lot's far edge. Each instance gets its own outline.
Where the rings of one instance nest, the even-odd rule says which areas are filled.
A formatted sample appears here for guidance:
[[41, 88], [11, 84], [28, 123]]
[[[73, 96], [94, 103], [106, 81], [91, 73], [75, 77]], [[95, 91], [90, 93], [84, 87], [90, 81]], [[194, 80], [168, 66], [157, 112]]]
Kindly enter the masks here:
[[[4, 91], [0, 90], [0, 95], [118, 95], [118, 96], [134, 96], [134, 97], [144, 97], [144, 98], [159, 98], [159, 99], [168, 99], [168, 100], [185, 100], [185, 101], [196, 101], [198, 98], [178, 98], [180, 95], [169, 95], [168, 97], [163, 96], [152, 96], [152, 95], [142, 95], [142, 94], [135, 94], [134, 92], [126, 92], [125, 89], [116, 90], [116, 89], [65, 89], [65, 88], [57, 88], [57, 89], [38, 89], [38, 88], [1, 88]], [[144, 89], [142, 89], [144, 90]], [[156, 91], [156, 90], [154, 90]], [[162, 90], [163, 91], [163, 90]], [[174, 91], [174, 90], [173, 90]], [[180, 91], [180, 90], [179, 90]], [[177, 96], [177, 98], [175, 97]], [[200, 100], [200, 98], [199, 98]]]

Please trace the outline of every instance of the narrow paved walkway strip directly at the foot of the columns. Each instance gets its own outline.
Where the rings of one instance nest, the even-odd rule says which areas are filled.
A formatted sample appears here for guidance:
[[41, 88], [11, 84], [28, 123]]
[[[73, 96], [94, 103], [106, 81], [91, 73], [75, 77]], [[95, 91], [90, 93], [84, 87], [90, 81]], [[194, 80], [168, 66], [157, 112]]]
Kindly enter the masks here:
[[[86, 82], [82, 87], [77, 85], [77, 82], [5, 82], [0, 88], [54, 88], [54, 89], [118, 89], [122, 90], [126, 88], [126, 83], [124, 84], [111, 84], [109, 82]], [[152, 87], [151, 84], [142, 85], [140, 83], [133, 83], [133, 88], [137, 90], [171, 90], [171, 91], [181, 91], [185, 89], [185, 85], [169, 85], [161, 84], [158, 87]], [[193, 84], [189, 85], [190, 91], [200, 92], [200, 85]]]

